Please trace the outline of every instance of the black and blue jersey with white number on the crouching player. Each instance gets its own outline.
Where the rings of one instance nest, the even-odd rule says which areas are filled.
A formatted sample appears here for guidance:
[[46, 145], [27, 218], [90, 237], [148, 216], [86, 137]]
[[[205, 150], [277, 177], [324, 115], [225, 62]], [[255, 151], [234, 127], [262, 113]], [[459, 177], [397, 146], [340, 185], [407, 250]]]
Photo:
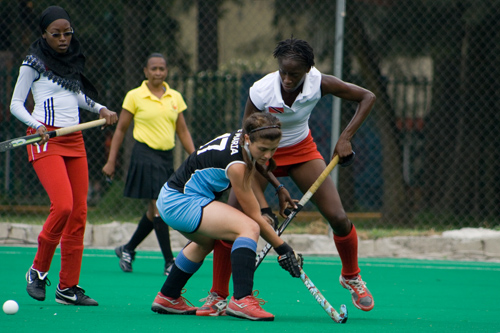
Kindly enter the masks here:
[[219, 198], [231, 187], [227, 169], [243, 163], [239, 144], [241, 129], [223, 134], [204, 144], [182, 163], [168, 180], [168, 187], [181, 193]]

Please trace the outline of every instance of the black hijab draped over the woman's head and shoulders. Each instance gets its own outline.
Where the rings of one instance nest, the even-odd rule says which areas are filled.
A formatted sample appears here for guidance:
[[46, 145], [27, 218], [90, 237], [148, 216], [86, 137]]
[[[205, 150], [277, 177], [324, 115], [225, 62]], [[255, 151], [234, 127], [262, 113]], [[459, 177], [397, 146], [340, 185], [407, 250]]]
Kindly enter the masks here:
[[[71, 24], [69, 14], [63, 8], [50, 6], [45, 9], [40, 16], [41, 33], [43, 34], [52, 22], [59, 19], [67, 20]], [[76, 93], [83, 91], [91, 99], [97, 98], [96, 88], [83, 75], [85, 56], [75, 35], [71, 38], [65, 53], [56, 52], [43, 37], [38, 38], [31, 44], [25, 62], [63, 88]]]

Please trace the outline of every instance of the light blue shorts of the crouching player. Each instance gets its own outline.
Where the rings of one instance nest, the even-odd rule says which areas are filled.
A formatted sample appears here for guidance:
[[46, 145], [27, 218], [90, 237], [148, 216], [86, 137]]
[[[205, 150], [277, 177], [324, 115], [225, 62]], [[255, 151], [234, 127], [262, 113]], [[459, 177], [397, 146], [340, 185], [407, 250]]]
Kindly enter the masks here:
[[213, 199], [201, 195], [187, 195], [165, 184], [156, 200], [163, 221], [175, 230], [193, 233], [200, 227], [203, 208]]

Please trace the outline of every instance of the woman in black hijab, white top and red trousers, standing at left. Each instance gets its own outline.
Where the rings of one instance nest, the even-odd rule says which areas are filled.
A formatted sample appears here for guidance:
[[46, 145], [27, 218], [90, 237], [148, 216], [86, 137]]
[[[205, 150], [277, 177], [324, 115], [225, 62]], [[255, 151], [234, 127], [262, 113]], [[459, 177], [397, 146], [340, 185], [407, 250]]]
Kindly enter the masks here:
[[[56, 302], [98, 305], [78, 285], [87, 220], [88, 165], [81, 132], [49, 140], [47, 131], [79, 123], [79, 108], [99, 114], [106, 125], [115, 124], [115, 112], [94, 101], [97, 91], [84, 76], [85, 56], [74, 35], [71, 19], [61, 7], [51, 6], [40, 17], [41, 37], [30, 47], [19, 69], [11, 112], [29, 126], [27, 134], [42, 140], [27, 146], [28, 159], [50, 197], [50, 213], [38, 236], [33, 265], [26, 274], [27, 292], [45, 300], [50, 264], [61, 245], [61, 270]], [[35, 107], [24, 107], [31, 90]]]

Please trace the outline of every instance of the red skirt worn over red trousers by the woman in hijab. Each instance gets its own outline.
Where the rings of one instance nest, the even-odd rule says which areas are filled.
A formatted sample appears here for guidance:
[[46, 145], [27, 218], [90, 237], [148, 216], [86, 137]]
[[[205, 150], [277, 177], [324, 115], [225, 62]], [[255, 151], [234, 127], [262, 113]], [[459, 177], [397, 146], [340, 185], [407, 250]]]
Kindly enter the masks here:
[[[60, 128], [49, 125], [45, 125], [45, 127], [49, 132]], [[29, 127], [26, 131], [27, 135], [36, 133], [36, 129], [31, 127]], [[28, 145], [26, 146], [26, 150], [28, 151], [28, 159], [30, 162], [49, 155], [67, 157], [82, 157], [87, 155], [82, 131], [50, 138], [49, 141], [43, 146], [39, 146], [37, 144]]]

